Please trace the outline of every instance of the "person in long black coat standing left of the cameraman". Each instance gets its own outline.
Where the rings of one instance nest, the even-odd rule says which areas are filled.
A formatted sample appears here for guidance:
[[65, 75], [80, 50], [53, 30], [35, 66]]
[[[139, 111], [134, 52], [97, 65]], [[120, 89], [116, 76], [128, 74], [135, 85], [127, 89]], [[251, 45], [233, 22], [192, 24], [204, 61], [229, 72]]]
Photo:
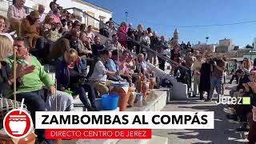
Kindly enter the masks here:
[[202, 92], [207, 92], [207, 100], [209, 100], [210, 95], [210, 58], [206, 58], [206, 62], [202, 64], [201, 70], [200, 70], [200, 84], [199, 84], [199, 93], [200, 93], [200, 99], [202, 100]]

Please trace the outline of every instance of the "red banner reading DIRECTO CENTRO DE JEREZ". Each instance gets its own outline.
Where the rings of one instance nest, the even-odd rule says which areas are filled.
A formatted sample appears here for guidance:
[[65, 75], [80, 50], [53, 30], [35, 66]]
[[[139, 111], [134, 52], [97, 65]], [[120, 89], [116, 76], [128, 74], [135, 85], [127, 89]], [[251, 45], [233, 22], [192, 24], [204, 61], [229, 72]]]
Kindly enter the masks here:
[[151, 139], [150, 129], [47, 129], [47, 139]]

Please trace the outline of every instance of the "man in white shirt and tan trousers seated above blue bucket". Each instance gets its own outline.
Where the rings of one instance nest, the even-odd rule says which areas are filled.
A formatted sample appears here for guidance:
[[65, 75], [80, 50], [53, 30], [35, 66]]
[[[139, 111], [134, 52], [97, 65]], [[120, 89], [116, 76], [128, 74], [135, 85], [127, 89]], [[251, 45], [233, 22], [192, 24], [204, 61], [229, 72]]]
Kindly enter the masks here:
[[114, 72], [106, 69], [106, 62], [109, 60], [109, 51], [102, 50], [99, 52], [98, 62], [94, 66], [94, 71], [90, 75], [90, 83], [94, 86], [98, 92], [103, 94], [108, 94], [109, 88], [107, 82], [107, 76], [119, 75], [119, 71]]

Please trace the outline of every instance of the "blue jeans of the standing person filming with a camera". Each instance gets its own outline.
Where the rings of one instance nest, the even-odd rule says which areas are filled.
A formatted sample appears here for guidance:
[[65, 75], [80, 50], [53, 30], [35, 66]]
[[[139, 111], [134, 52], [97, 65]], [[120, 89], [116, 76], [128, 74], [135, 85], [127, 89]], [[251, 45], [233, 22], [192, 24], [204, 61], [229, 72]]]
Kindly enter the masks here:
[[215, 88], [216, 88], [218, 95], [222, 94], [222, 77], [215, 78], [214, 76], [211, 76], [211, 78], [210, 78], [210, 98], [213, 97]]

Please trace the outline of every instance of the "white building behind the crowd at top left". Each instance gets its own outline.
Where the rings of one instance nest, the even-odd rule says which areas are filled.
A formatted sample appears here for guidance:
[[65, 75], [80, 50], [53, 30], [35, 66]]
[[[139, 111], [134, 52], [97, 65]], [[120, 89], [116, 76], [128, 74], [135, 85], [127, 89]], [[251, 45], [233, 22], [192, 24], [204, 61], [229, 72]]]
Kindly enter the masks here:
[[[45, 13], [47, 14], [50, 11], [50, 2], [52, 2], [52, 0], [26, 0], [25, 6], [37, 10], [38, 5], [42, 4], [46, 7]], [[71, 14], [75, 14], [82, 23], [85, 23], [87, 26], [94, 26], [96, 29], [99, 29], [99, 22], [94, 20], [94, 18], [102, 22], [107, 22], [112, 18], [112, 12], [110, 10], [106, 10], [90, 2], [84, 2], [82, 0], [58, 0], [57, 3], [62, 6], [63, 9], [68, 9]], [[0, 14], [6, 16], [10, 5], [12, 5], [12, 1], [0, 0]], [[79, 10], [86, 12], [86, 14], [94, 18], [91, 18]]]

